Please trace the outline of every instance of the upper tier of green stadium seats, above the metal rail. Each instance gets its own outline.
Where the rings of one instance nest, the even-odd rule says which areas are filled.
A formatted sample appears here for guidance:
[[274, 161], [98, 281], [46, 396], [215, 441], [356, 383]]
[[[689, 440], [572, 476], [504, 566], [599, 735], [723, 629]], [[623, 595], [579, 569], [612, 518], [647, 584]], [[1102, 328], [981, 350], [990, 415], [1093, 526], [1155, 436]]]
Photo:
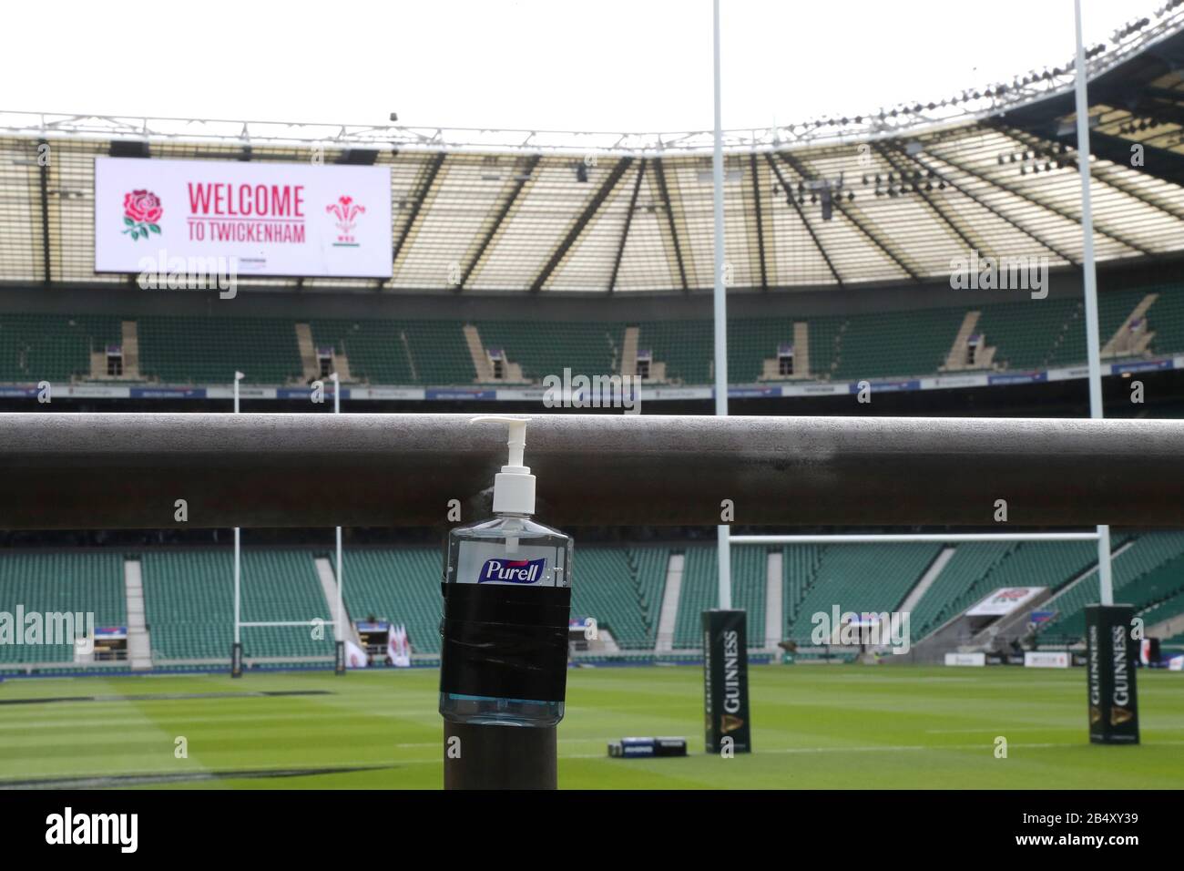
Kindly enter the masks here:
[[[1133, 314], [1137, 327], [1111, 344]], [[1164, 357], [1184, 352], [1184, 286], [1148, 286], [1099, 296], [1100, 335], [1107, 359]], [[734, 384], [762, 380], [858, 380], [918, 377], [947, 369], [964, 322], [990, 354], [959, 370], [1029, 371], [1085, 361], [1083, 308], [1076, 299], [945, 306], [849, 315], [734, 318], [728, 322], [728, 371]], [[90, 354], [118, 346], [121, 320], [136, 326], [139, 374], [165, 384], [220, 384], [239, 369], [257, 384], [295, 384], [320, 377], [297, 339], [301, 321], [284, 318], [181, 315], [64, 316], [0, 314], [0, 382], [86, 380]], [[792, 376], [771, 373], [778, 350], [793, 345], [794, 325], [809, 348]], [[556, 321], [314, 319], [307, 354], [332, 348], [346, 380], [381, 385], [471, 385], [493, 380], [483, 358], [502, 351], [521, 367], [521, 382], [539, 383], [564, 369], [573, 373], [632, 370], [624, 360], [625, 334], [637, 328], [637, 350], [652, 353], [671, 384], [712, 383], [708, 320]], [[474, 329], [477, 347], [469, 346]], [[475, 361], [474, 354], [478, 359]], [[806, 365], [803, 365], [806, 364]], [[310, 372], [311, 367], [311, 372]], [[651, 378], [652, 379], [652, 378]], [[502, 378], [501, 383], [510, 383]]]

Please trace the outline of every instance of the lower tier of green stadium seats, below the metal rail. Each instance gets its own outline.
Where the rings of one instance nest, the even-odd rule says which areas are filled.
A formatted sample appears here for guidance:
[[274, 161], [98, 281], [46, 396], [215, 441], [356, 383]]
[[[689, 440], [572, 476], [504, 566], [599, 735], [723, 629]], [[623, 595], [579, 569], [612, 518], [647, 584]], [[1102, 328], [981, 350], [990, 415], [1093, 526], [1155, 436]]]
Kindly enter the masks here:
[[[1146, 626], [1184, 614], [1184, 532], [1115, 534], [1115, 598], [1134, 604]], [[931, 544], [787, 545], [781, 549], [786, 638], [811, 643], [811, 616], [897, 609], [942, 550]], [[594, 617], [622, 651], [655, 648], [671, 545], [587, 545], [578, 551], [572, 614]], [[701, 647], [700, 615], [715, 607], [714, 545], [688, 545], [674, 648]], [[244, 627], [249, 659], [328, 658], [332, 610], [316, 572], [314, 550], [244, 550], [243, 620], [326, 619], [326, 638], [298, 627]], [[0, 597], [8, 607], [95, 613], [96, 626], [127, 622], [123, 555], [82, 551], [9, 551], [0, 557]], [[142, 565], [144, 608], [156, 665], [224, 662], [233, 635], [233, 557], [229, 550], [153, 549], [127, 558]], [[407, 627], [417, 654], [439, 652], [439, 572], [436, 547], [347, 547], [345, 602], [354, 621], [391, 620]], [[767, 607], [764, 547], [732, 551], [733, 606], [748, 614], [749, 647], [764, 643]], [[965, 543], [913, 606], [910, 635], [919, 641], [974, 602], [1003, 587], [1043, 585], [1056, 613], [1040, 643], [1081, 641], [1086, 604], [1096, 601], [1092, 542]], [[1072, 583], [1075, 582], [1075, 583]], [[85, 597], [78, 598], [78, 590]], [[1167, 639], [1166, 643], [1177, 643]], [[0, 645], [0, 662], [72, 662], [69, 646]]]

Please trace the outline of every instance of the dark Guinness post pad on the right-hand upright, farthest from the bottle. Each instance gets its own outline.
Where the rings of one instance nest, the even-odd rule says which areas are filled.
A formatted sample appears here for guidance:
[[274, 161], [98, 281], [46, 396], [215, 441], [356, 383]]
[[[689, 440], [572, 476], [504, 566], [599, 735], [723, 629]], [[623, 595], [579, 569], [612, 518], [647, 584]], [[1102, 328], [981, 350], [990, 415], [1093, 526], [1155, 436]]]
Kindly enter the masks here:
[[1135, 693], [1138, 643], [1131, 638], [1130, 604], [1086, 606], [1086, 674], [1089, 687], [1089, 741], [1138, 744]]

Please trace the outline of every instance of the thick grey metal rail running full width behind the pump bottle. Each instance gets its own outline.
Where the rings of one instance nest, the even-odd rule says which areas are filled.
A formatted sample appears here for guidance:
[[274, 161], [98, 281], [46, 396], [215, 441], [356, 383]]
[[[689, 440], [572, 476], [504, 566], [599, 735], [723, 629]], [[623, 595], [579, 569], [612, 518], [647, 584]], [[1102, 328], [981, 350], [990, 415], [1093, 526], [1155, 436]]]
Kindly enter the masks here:
[[[0, 529], [443, 529], [506, 456], [469, 421], [0, 414]], [[540, 414], [526, 461], [558, 526], [1184, 527], [1184, 421]]]

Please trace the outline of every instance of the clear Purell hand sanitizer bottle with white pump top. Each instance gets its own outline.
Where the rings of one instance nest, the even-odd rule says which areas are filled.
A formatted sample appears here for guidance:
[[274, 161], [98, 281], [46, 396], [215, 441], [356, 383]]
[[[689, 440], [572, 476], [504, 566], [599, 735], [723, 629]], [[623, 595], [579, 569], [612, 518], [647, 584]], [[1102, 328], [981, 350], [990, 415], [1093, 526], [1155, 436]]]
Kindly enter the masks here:
[[572, 539], [535, 523], [523, 466], [529, 418], [509, 429], [493, 520], [449, 533], [440, 622], [440, 715], [453, 723], [553, 726], [564, 718]]

